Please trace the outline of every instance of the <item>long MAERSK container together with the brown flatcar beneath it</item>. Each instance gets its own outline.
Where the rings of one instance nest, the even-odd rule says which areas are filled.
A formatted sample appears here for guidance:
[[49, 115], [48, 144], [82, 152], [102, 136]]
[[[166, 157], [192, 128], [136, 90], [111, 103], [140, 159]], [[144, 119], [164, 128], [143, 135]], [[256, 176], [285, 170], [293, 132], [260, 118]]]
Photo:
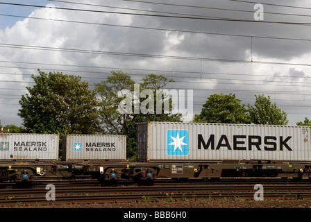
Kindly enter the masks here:
[[310, 178], [308, 126], [146, 122], [137, 160], [169, 178]]

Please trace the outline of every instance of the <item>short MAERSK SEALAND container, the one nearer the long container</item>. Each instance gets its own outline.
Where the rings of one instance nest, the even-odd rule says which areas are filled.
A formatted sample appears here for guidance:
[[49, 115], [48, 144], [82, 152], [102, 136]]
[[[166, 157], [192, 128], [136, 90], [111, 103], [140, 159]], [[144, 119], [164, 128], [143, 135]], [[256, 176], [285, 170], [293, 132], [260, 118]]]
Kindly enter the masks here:
[[126, 136], [63, 135], [62, 160], [126, 160]]

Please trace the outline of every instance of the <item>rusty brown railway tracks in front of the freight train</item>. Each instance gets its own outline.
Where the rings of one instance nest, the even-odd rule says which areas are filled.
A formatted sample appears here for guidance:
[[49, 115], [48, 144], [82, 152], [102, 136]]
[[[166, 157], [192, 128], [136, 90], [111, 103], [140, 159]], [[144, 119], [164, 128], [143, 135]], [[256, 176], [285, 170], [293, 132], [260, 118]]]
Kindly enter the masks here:
[[[49, 205], [60, 203], [115, 203], [128, 201], [251, 200], [254, 185], [264, 187], [264, 199], [310, 199], [309, 180], [155, 180], [153, 184], [124, 181], [40, 181], [31, 185], [0, 184], [0, 205]], [[47, 187], [47, 185], [53, 185]], [[54, 192], [55, 191], [55, 192]], [[51, 200], [55, 194], [55, 200]], [[50, 201], [48, 201], [49, 199]]]

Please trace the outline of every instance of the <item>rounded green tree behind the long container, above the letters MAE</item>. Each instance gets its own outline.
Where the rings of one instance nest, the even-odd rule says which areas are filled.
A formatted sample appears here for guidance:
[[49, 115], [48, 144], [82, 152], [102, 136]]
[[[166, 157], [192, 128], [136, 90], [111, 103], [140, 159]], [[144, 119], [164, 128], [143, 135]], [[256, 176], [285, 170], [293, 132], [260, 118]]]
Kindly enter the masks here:
[[235, 94], [212, 94], [203, 104], [200, 114], [194, 116], [197, 123], [250, 123], [244, 104]]

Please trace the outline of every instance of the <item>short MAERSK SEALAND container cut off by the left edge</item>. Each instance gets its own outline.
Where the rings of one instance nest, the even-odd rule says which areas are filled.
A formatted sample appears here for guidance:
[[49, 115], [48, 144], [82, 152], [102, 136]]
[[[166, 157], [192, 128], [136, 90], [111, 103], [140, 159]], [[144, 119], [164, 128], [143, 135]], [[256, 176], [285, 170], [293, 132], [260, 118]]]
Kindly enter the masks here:
[[58, 160], [59, 135], [0, 134], [0, 160]]

